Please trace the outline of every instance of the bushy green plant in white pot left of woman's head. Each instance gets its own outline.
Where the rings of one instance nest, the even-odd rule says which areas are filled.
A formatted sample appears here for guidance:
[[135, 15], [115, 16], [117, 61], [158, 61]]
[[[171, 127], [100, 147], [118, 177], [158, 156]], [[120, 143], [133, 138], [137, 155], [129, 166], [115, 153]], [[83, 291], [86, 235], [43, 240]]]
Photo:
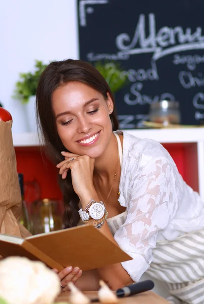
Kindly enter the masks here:
[[38, 80], [47, 64], [40, 60], [35, 60], [35, 70], [28, 73], [20, 73], [20, 80], [16, 83], [14, 98], [27, 103], [30, 96], [36, 94]]

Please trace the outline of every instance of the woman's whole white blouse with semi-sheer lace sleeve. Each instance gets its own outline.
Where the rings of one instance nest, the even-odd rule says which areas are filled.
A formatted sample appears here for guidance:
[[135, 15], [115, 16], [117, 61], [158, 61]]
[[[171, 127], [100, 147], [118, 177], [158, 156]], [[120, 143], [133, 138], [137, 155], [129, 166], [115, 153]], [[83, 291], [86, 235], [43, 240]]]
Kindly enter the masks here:
[[118, 201], [127, 208], [127, 217], [114, 239], [133, 257], [122, 267], [138, 281], [149, 268], [157, 241], [204, 227], [204, 203], [159, 142], [123, 135]]

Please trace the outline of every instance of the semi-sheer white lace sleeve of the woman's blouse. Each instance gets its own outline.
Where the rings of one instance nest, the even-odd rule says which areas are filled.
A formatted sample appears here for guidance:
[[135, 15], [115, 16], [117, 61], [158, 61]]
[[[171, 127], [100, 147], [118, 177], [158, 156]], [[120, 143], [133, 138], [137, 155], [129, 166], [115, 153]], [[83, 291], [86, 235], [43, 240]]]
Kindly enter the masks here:
[[140, 168], [140, 174], [128, 181], [127, 218], [114, 238], [133, 258], [122, 262], [122, 266], [135, 282], [149, 267], [158, 232], [168, 226], [177, 209], [171, 167], [172, 162], [168, 159], [157, 158]]

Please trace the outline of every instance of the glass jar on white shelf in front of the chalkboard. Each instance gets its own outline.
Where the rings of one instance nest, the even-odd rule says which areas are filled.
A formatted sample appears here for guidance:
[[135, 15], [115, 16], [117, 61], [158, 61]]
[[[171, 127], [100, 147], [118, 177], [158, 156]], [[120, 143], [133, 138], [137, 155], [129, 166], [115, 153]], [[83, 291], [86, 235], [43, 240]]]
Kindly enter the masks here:
[[160, 123], [164, 126], [169, 124], [179, 125], [181, 116], [178, 101], [161, 100], [152, 103], [149, 110], [149, 121]]

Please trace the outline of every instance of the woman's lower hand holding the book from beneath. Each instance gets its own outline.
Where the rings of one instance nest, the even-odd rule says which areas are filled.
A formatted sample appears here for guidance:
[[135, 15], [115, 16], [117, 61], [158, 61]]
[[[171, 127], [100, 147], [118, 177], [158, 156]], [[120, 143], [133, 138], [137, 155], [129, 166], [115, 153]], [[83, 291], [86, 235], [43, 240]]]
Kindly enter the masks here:
[[80, 270], [78, 267], [73, 269], [71, 266], [63, 269], [61, 272], [58, 272], [57, 269], [53, 269], [53, 271], [57, 273], [60, 278], [60, 286], [62, 288], [61, 291], [69, 290], [67, 283], [72, 282], [75, 284], [82, 275], [82, 270]]

